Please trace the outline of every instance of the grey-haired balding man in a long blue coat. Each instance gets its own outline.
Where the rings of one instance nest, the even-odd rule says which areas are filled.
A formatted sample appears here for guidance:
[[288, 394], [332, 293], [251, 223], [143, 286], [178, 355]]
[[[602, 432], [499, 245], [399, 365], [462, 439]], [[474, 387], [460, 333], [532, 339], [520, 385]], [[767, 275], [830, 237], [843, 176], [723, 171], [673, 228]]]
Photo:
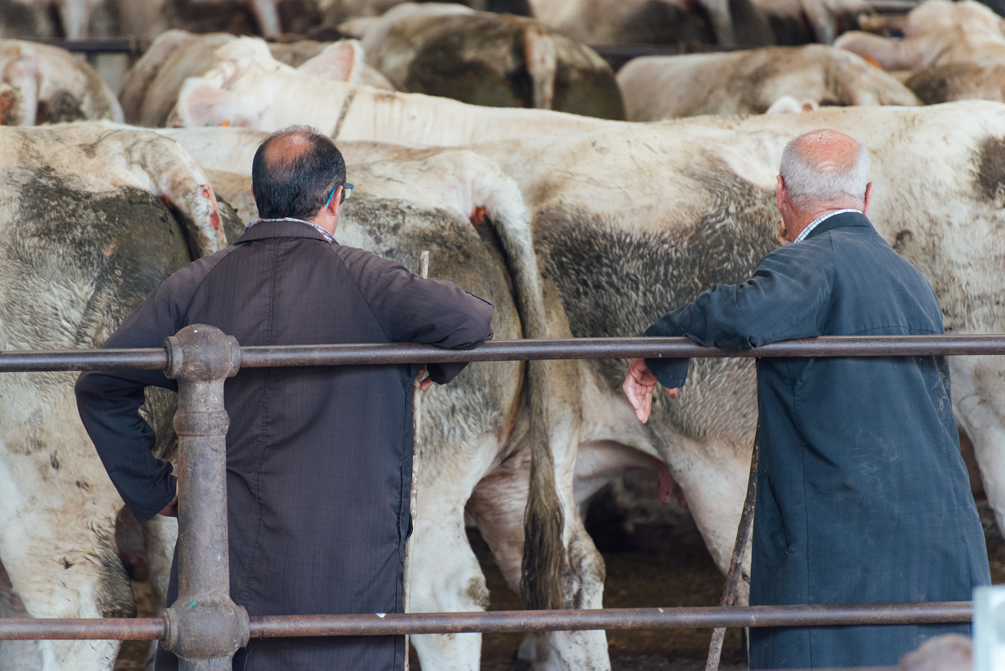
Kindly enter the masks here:
[[[749, 281], [707, 290], [645, 335], [749, 350], [943, 333], [932, 288], [865, 216], [871, 187], [853, 138], [795, 138], [778, 177], [782, 246]], [[686, 376], [686, 359], [634, 359], [623, 388], [639, 421], [657, 380], [676, 397]], [[751, 605], [967, 601], [990, 583], [946, 357], [762, 358], [757, 380]], [[752, 628], [750, 664], [889, 666], [947, 633], [969, 626]]]

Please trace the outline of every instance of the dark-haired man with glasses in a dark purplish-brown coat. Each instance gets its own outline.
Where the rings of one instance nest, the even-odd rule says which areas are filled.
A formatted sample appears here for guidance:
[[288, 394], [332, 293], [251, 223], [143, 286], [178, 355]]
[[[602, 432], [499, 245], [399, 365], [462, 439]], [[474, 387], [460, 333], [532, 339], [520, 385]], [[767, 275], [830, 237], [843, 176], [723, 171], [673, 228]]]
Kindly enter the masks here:
[[[176, 271], [105, 347], [161, 347], [189, 324], [241, 345], [422, 342], [470, 348], [492, 304], [336, 241], [351, 192], [332, 141], [269, 136], [251, 168], [258, 213], [233, 244]], [[430, 364], [423, 387], [464, 364]], [[227, 380], [230, 595], [251, 616], [400, 613], [418, 365], [249, 368]], [[152, 455], [144, 388], [161, 371], [85, 372], [80, 417], [141, 522], [174, 514], [171, 464]], [[177, 483], [185, 487], [185, 483]], [[172, 566], [168, 603], [178, 596]], [[392, 671], [404, 637], [253, 639], [241, 671]], [[157, 671], [178, 668], [161, 649]]]

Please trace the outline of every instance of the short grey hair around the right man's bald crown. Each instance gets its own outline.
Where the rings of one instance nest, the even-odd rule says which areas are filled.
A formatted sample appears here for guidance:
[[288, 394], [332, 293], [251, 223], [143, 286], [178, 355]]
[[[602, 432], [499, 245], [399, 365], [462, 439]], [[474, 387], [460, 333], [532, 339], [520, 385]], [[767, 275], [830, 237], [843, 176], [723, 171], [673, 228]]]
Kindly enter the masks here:
[[807, 156], [809, 138], [820, 131], [811, 131], [794, 138], [782, 152], [779, 173], [785, 190], [796, 207], [803, 208], [812, 201], [835, 202], [853, 198], [865, 201], [865, 185], [869, 181], [869, 157], [865, 148], [858, 145], [853, 160], [814, 160]]

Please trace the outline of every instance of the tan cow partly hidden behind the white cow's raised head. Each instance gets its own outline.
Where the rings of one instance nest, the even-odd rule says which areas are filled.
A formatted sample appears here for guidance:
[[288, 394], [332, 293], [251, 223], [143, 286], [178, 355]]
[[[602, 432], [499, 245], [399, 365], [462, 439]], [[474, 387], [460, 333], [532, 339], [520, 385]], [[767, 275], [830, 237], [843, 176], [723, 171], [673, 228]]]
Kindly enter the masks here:
[[263, 55], [264, 62], [274, 57], [274, 62], [266, 66], [283, 71], [298, 68], [322, 78], [393, 88], [365, 63], [362, 47], [356, 40], [266, 45], [261, 40], [239, 40], [229, 33], [197, 35], [168, 30], [154, 40], [126, 74], [119, 94], [126, 121], [147, 127], [164, 126], [186, 78], [204, 74], [220, 59], [250, 60], [258, 53]]

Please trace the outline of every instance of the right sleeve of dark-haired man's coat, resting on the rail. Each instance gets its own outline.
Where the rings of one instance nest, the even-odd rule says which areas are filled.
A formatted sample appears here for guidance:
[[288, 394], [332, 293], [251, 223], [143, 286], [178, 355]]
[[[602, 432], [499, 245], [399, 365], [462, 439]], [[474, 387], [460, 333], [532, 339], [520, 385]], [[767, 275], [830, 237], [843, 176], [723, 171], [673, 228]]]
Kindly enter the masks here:
[[[356, 250], [362, 251], [362, 250]], [[370, 309], [391, 342], [421, 342], [448, 349], [472, 349], [492, 337], [495, 305], [452, 282], [423, 279], [405, 267], [366, 251], [347, 263]], [[466, 363], [430, 363], [429, 377], [445, 384]]]

